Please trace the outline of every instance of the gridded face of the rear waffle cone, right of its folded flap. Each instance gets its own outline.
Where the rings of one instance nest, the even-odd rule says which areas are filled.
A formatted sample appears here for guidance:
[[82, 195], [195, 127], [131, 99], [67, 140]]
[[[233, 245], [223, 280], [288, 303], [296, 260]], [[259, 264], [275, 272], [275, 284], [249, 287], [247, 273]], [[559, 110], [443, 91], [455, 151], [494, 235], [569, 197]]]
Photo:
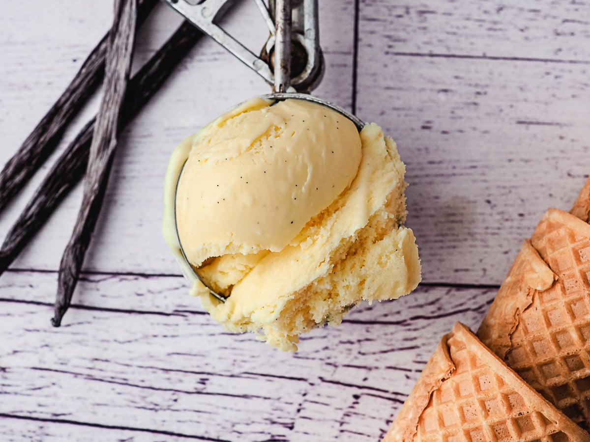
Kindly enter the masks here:
[[505, 355], [493, 340], [481, 338], [535, 390], [588, 428], [590, 226], [568, 213], [550, 209], [531, 242], [557, 281], [549, 289], [533, 293], [531, 304], [520, 312]]

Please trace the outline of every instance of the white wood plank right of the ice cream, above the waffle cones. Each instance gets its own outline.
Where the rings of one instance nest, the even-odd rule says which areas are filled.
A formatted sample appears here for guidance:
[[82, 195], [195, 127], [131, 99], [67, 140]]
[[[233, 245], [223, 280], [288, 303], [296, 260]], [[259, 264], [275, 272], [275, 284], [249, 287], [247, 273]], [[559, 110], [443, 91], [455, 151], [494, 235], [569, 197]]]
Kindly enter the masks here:
[[588, 67], [382, 51], [360, 48], [358, 114], [407, 164], [423, 280], [499, 284], [543, 212], [569, 210], [590, 172]]

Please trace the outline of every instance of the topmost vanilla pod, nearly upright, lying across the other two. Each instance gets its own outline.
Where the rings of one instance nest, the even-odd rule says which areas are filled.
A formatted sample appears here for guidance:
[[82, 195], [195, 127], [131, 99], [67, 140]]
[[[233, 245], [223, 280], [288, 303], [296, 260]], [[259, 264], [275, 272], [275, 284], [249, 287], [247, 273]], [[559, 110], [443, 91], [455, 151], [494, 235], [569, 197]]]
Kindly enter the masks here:
[[51, 321], [54, 326], [61, 324], [61, 318], [70, 305], [109, 182], [117, 147], [119, 114], [123, 107], [131, 69], [136, 8], [137, 0], [115, 0], [114, 21], [109, 32], [109, 47], [104, 67], [104, 95], [90, 144], [82, 206], [70, 242], [61, 258], [55, 316]]

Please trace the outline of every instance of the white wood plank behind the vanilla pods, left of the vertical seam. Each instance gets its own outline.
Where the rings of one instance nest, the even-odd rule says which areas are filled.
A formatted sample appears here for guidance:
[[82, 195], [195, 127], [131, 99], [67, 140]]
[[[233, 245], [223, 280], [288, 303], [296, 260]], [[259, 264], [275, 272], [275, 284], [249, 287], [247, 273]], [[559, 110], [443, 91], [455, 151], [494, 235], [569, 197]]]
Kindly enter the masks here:
[[[258, 48], [252, 49], [258, 52], [266, 41], [263, 22], [253, 2], [241, 4], [244, 6], [234, 17], [228, 18], [227, 29], [237, 36], [247, 35], [247, 43], [251, 46], [257, 43]], [[61, 8], [70, 12], [67, 15], [55, 12]], [[112, 5], [103, 2], [93, 8], [97, 11], [75, 1], [60, 5], [38, 1], [26, 13], [19, 8], [8, 8], [0, 18], [0, 28], [4, 29], [0, 34], [0, 131], [5, 146], [0, 149], [0, 164], [14, 153], [108, 28]], [[47, 32], [51, 33], [48, 41], [44, 41], [39, 28], [44, 27], [44, 15], [48, 11], [52, 11], [55, 23], [48, 28]], [[344, 107], [352, 103], [352, 11], [352, 0], [342, 2], [336, 9], [329, 5], [320, 9], [320, 34], [327, 68], [316, 94]], [[21, 28], [22, 21], [34, 25]], [[178, 23], [178, 15], [167, 6], [157, 8], [137, 38], [137, 60], [146, 60]], [[256, 32], [252, 32], [253, 23]], [[84, 34], [85, 28], [94, 30], [91, 37]], [[78, 34], [84, 37], [78, 38]], [[41, 66], [34, 57], [38, 52], [43, 54]], [[76, 62], [71, 61], [74, 58]], [[84, 268], [117, 273], [179, 274], [160, 233], [162, 185], [168, 157], [182, 138], [219, 113], [268, 92], [270, 87], [257, 74], [215, 42], [205, 39], [199, 43], [120, 137], [105, 210]], [[91, 106], [85, 115], [90, 116], [94, 110]], [[81, 120], [78, 127], [85, 121]], [[65, 139], [71, 140], [75, 133], [75, 130], [68, 131]], [[25, 195], [0, 216], [0, 235], [8, 232], [40, 178], [36, 177]], [[80, 200], [78, 186], [14, 263], [16, 268], [57, 269]]]

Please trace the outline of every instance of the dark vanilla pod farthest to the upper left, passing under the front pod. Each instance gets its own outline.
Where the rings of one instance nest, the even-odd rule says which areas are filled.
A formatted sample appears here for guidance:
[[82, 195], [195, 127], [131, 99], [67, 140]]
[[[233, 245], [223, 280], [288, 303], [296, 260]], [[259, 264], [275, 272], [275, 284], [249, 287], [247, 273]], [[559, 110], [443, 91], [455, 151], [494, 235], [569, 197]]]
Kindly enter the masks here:
[[[145, 21], [157, 2], [158, 0], [142, 0], [137, 12], [138, 25]], [[108, 37], [107, 33], [90, 52], [64, 93], [0, 172], [0, 212], [53, 153], [65, 127], [100, 84], [104, 74]]]

